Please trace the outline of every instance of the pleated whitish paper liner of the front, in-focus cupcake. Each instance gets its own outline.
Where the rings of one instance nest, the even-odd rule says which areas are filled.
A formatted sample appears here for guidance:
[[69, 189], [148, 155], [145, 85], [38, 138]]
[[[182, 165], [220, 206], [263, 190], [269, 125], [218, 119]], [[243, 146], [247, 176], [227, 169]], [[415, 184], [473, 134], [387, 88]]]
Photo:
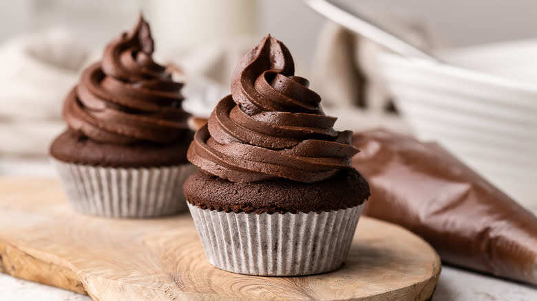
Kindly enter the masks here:
[[246, 214], [188, 206], [209, 263], [260, 276], [310, 275], [341, 267], [364, 207]]

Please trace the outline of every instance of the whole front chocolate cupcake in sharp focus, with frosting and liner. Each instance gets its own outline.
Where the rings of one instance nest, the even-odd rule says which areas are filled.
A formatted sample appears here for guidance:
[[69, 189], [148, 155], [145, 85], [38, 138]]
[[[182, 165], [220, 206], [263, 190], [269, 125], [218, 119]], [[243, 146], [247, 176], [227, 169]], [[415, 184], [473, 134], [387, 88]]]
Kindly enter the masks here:
[[209, 262], [266, 276], [337, 269], [369, 197], [351, 132], [333, 129], [271, 36], [242, 58], [231, 93], [194, 135], [200, 171], [183, 186]]

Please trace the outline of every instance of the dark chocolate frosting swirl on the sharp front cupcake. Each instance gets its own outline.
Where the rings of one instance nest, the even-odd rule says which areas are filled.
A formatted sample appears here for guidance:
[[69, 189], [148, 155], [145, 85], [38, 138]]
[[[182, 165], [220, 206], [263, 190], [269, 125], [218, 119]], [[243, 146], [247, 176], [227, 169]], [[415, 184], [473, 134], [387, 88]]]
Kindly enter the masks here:
[[233, 72], [231, 95], [196, 132], [188, 159], [232, 182], [291, 179], [313, 183], [352, 168], [352, 132], [333, 129], [320, 96], [295, 66], [285, 45], [266, 36]]

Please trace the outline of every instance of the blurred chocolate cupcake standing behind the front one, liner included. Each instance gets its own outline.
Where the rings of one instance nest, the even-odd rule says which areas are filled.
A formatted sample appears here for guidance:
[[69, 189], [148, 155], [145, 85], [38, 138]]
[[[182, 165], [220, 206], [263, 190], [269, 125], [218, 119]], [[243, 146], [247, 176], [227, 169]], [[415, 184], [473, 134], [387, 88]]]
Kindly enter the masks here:
[[68, 129], [50, 146], [67, 199], [78, 212], [149, 217], [186, 210], [182, 183], [193, 132], [182, 83], [154, 62], [140, 15], [103, 58], [83, 71], [63, 104]]

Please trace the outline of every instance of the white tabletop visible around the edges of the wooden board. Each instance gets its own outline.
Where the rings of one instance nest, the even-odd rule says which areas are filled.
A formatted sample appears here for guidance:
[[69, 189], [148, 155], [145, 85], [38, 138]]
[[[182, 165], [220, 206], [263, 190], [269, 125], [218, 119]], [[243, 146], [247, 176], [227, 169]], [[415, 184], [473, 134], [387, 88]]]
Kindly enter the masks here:
[[[0, 176], [54, 176], [43, 160], [0, 159]], [[89, 301], [87, 296], [0, 274], [0, 301]], [[536, 301], [537, 287], [442, 266], [433, 301]]]

